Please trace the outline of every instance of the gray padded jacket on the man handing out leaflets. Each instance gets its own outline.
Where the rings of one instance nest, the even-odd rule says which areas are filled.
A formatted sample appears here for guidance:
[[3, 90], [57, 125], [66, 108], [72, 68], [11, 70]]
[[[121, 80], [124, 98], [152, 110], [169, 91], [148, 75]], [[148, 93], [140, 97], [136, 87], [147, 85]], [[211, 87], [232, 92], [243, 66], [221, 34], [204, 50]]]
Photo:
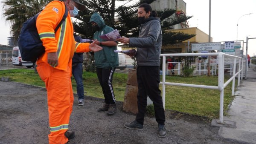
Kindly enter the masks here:
[[130, 47], [137, 47], [138, 66], [160, 66], [162, 30], [160, 19], [149, 17], [140, 26], [139, 37], [130, 38]]

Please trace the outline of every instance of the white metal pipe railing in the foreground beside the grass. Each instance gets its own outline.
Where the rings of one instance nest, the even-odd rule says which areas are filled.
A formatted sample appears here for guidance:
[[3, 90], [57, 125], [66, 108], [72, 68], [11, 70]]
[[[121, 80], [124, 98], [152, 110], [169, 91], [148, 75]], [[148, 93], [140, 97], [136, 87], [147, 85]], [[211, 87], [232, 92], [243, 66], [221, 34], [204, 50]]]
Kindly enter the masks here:
[[[184, 57], [184, 56], [218, 56], [218, 86], [208, 86], [208, 85], [198, 85], [198, 84], [183, 84], [183, 83], [170, 83], [166, 82], [166, 57]], [[172, 86], [189, 86], [189, 87], [197, 87], [197, 88], [204, 88], [204, 89], [218, 89], [220, 91], [220, 112], [219, 112], [219, 121], [218, 123], [224, 124], [223, 122], [223, 107], [224, 107], [224, 88], [231, 82], [232, 83], [232, 95], [235, 92], [235, 79], [236, 75], [238, 75], [238, 86], [240, 86], [240, 78], [242, 79], [243, 75], [243, 58], [234, 55], [227, 55], [222, 52], [216, 53], [180, 53], [180, 54], [161, 54], [163, 57], [163, 81], [160, 84], [163, 84], [163, 91], [162, 91], [162, 98], [163, 98], [163, 107], [165, 108], [165, 86], [172, 85]], [[224, 56], [234, 58], [233, 59], [233, 76], [224, 83]], [[239, 64], [238, 72], [236, 72], [236, 63]], [[240, 75], [241, 73], [241, 75]]]

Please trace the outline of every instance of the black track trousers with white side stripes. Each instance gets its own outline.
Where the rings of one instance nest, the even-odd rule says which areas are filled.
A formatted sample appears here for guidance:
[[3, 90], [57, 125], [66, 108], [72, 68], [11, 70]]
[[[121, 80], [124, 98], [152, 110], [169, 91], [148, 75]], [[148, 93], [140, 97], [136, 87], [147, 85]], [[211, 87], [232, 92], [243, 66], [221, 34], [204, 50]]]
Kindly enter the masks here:
[[102, 92], [103, 92], [106, 104], [116, 103], [115, 94], [112, 86], [113, 74], [115, 70], [116, 68], [114, 69], [96, 68], [99, 84], [102, 87]]

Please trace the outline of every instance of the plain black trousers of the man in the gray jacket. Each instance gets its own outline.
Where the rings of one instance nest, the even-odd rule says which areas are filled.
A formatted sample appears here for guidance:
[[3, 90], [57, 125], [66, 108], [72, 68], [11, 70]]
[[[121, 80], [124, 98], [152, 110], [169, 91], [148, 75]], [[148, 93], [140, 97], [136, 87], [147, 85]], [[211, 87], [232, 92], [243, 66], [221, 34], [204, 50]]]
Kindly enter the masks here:
[[160, 66], [138, 66], [138, 114], [136, 121], [144, 123], [144, 116], [147, 107], [147, 97], [153, 101], [155, 117], [158, 124], [164, 125], [165, 114], [163, 109], [163, 100], [159, 89], [160, 83]]

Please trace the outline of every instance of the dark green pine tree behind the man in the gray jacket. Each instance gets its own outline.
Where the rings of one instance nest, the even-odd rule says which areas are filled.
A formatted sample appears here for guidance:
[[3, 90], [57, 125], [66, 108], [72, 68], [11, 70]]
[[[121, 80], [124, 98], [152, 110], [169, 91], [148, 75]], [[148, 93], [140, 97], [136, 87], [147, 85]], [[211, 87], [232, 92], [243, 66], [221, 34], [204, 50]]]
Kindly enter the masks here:
[[[140, 0], [132, 6], [120, 6], [117, 9], [118, 13], [118, 25], [116, 26], [120, 34], [125, 37], [138, 37], [138, 21], [137, 21], [137, 7], [142, 3], [152, 3], [155, 0]], [[170, 32], [166, 31], [173, 29], [173, 26], [182, 23], [191, 16], [186, 17], [174, 17], [170, 18], [175, 14], [174, 9], [165, 9], [164, 11], [157, 11], [158, 17], [161, 20], [161, 28], [163, 33], [163, 45], [179, 43], [181, 41], [187, 40], [195, 35], [184, 34], [183, 32]]]

